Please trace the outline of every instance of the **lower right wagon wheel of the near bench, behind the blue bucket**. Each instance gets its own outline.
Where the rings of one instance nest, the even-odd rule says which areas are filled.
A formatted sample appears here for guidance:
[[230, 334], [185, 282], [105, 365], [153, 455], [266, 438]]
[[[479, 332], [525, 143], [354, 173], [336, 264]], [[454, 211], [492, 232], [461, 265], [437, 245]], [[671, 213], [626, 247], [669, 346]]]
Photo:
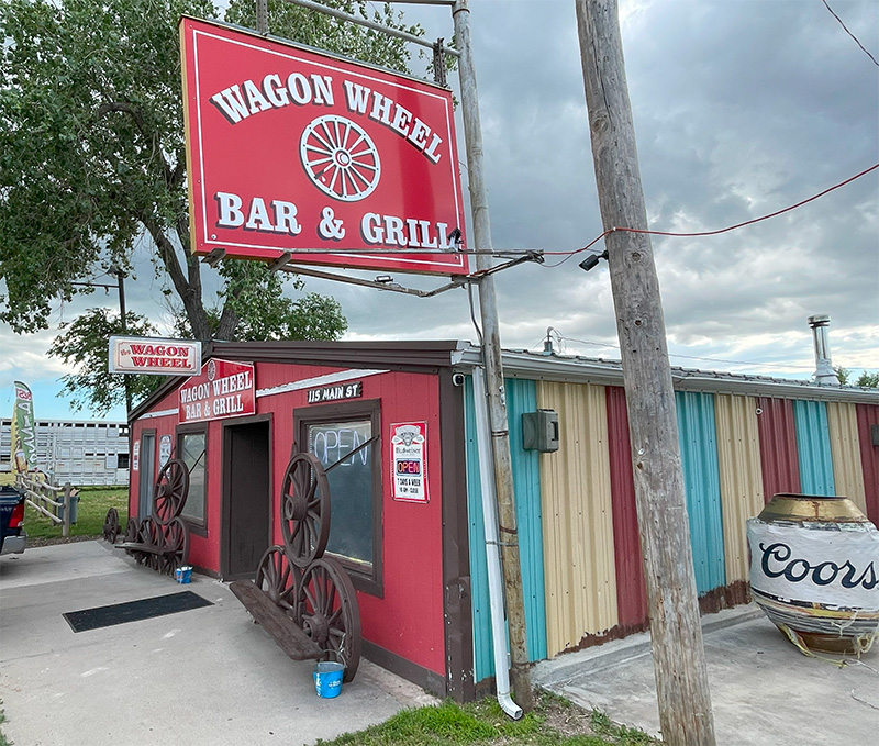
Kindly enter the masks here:
[[321, 557], [305, 568], [297, 591], [297, 617], [327, 660], [344, 664], [343, 681], [352, 681], [360, 665], [360, 610], [354, 586], [335, 559]]

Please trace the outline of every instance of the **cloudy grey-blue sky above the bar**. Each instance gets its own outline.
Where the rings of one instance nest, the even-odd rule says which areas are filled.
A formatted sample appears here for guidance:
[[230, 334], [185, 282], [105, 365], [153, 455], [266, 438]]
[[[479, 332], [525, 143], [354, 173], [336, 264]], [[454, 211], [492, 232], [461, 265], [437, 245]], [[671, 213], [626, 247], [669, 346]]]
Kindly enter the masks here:
[[[879, 3], [827, 2], [879, 59]], [[494, 247], [580, 248], [602, 227], [574, 0], [470, 4]], [[448, 9], [400, 8], [429, 37], [453, 35]], [[623, 0], [621, 15], [653, 230], [742, 223], [879, 163], [879, 66], [822, 0]], [[463, 152], [460, 127], [458, 138]], [[465, 165], [461, 174], [466, 191]], [[654, 237], [654, 250], [672, 365], [808, 378], [806, 318], [827, 313], [834, 364], [879, 369], [879, 171], [719, 236]], [[542, 349], [552, 327], [556, 349], [619, 359], [607, 265], [587, 274], [583, 255], [560, 258], [496, 276], [503, 346]], [[126, 286], [130, 307], [162, 325], [147, 264], [140, 275]], [[464, 290], [419, 299], [320, 280], [307, 289], [340, 300], [349, 339], [477, 338]], [[115, 308], [115, 294], [81, 308], [100, 302]], [[54, 321], [79, 308], [59, 308]], [[4, 330], [15, 354], [0, 359], [0, 408], [11, 410], [21, 379], [38, 417], [89, 416], [54, 396], [65, 371], [44, 353], [55, 333]]]

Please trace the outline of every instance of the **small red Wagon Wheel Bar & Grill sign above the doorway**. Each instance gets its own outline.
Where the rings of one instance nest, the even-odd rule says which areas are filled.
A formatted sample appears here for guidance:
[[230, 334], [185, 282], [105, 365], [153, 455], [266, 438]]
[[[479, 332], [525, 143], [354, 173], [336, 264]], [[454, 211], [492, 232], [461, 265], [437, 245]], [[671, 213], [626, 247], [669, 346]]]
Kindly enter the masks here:
[[178, 390], [180, 424], [256, 413], [256, 381], [252, 363], [208, 360], [201, 375]]

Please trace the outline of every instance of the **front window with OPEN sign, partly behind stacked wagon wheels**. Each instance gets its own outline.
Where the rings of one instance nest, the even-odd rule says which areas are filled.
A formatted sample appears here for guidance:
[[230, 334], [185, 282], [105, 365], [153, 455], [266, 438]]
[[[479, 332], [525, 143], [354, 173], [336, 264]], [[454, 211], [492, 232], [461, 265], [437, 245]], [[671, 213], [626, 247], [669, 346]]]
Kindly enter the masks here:
[[297, 410], [298, 450], [314, 454], [330, 485], [326, 552], [359, 590], [381, 594], [381, 449], [379, 402]]

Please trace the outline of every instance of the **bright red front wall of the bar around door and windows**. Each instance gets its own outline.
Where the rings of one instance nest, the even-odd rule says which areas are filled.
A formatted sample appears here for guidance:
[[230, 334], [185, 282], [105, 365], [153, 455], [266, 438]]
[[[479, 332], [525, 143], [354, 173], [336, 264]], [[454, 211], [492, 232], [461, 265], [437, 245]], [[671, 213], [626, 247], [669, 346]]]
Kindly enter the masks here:
[[[303, 379], [337, 372], [340, 368], [278, 363], [256, 364], [256, 414], [271, 414], [274, 542], [282, 544], [280, 489], [290, 460], [293, 442], [293, 410], [308, 408], [308, 388], [260, 396], [266, 389]], [[355, 371], [356, 372], [356, 371]], [[364, 639], [445, 677], [443, 606], [443, 524], [442, 453], [439, 446], [438, 378], [434, 375], [385, 372], [357, 377], [363, 381], [363, 399], [381, 401], [381, 493], [382, 493], [382, 576], [383, 598], [357, 592]], [[315, 385], [316, 386], [316, 385]], [[151, 411], [176, 409], [177, 393], [166, 397]], [[226, 422], [233, 422], [229, 419]], [[391, 423], [426, 422], [429, 502], [397, 502], [391, 499]], [[177, 416], [141, 419], [134, 423], [133, 438], [144, 428], [156, 430], [158, 438], [175, 436]], [[208, 424], [207, 536], [190, 536], [190, 563], [211, 574], [220, 574], [223, 496], [223, 423]], [[176, 437], [175, 441], [176, 443]], [[137, 481], [132, 481], [131, 510], [136, 514]]]

